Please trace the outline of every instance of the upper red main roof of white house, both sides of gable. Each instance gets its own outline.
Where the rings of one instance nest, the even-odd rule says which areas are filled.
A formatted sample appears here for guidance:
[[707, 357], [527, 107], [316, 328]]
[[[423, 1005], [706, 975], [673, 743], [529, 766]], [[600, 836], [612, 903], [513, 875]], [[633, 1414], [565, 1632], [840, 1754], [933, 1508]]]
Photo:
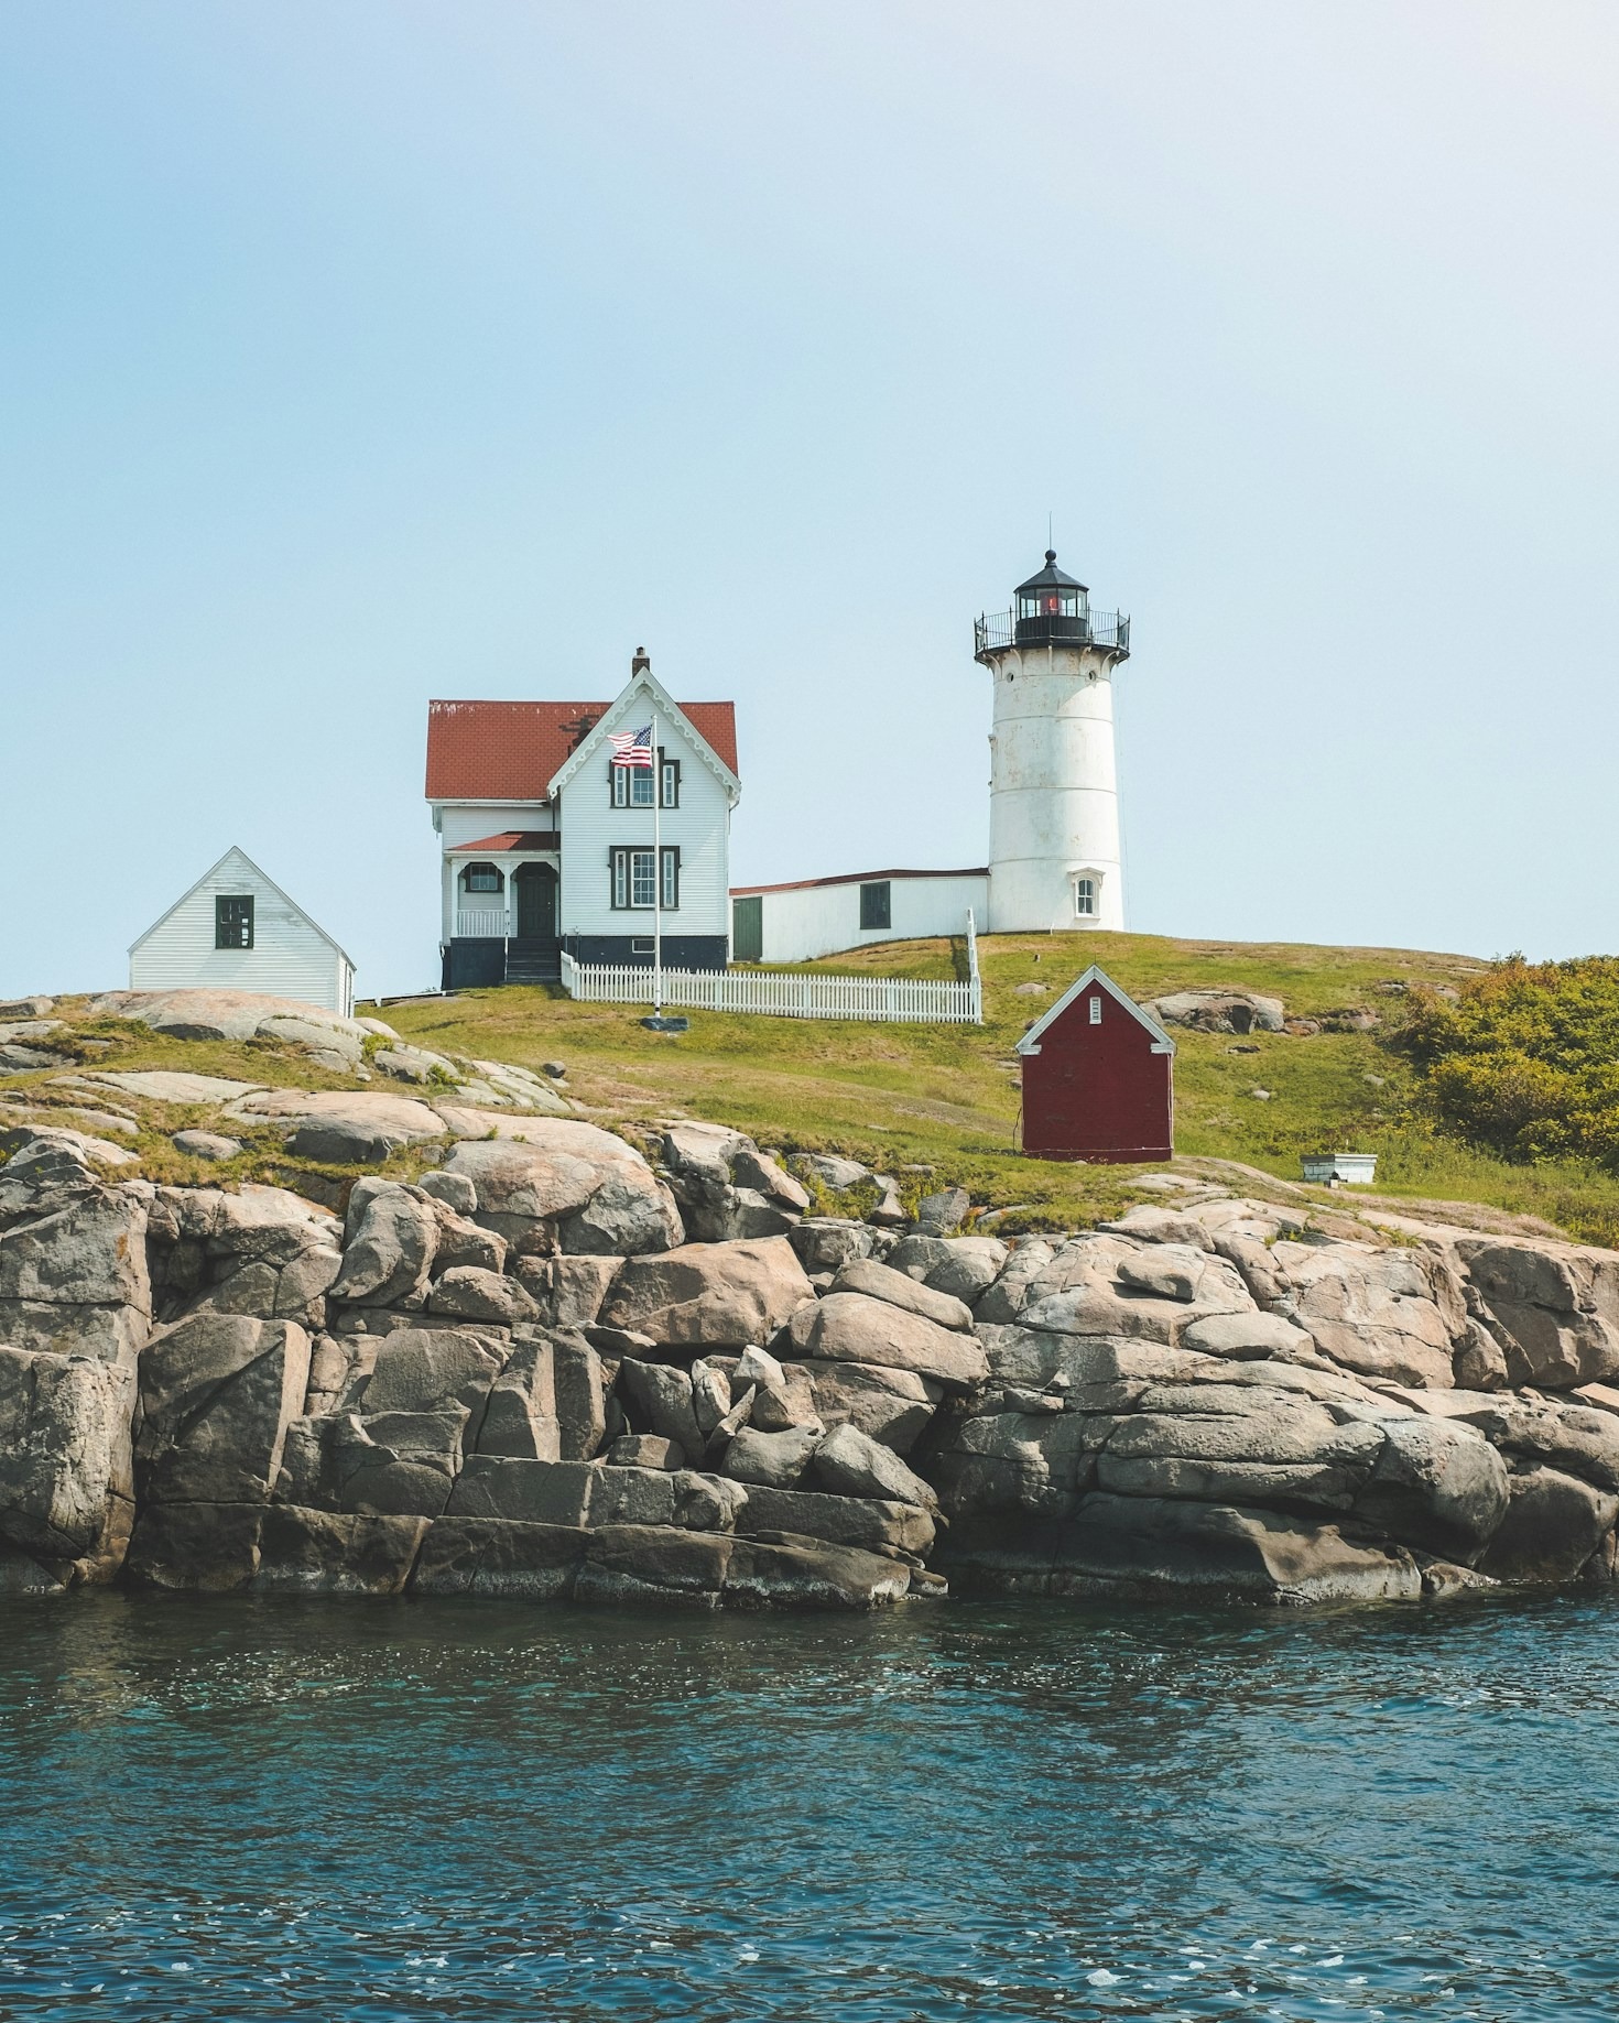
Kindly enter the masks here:
[[[429, 702], [429, 801], [544, 801], [609, 702]], [[700, 738], [737, 771], [737, 706], [682, 702]]]

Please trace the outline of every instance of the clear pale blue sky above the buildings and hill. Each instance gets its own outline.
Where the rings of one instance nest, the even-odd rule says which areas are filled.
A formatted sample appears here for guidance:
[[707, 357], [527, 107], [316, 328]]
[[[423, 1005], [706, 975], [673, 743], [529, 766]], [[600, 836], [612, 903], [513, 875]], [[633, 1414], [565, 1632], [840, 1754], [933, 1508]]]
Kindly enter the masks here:
[[735, 696], [737, 880], [986, 850], [1135, 617], [1131, 925], [1619, 947], [1609, 6], [0, 6], [0, 993], [239, 842], [437, 973], [429, 696]]

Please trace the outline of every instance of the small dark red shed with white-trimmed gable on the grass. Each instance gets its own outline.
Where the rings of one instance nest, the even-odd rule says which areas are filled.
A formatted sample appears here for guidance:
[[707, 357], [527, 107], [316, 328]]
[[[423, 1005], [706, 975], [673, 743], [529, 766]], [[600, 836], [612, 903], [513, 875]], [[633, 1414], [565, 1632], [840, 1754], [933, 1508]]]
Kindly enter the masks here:
[[1018, 1040], [1024, 1151], [1038, 1159], [1168, 1159], [1176, 1044], [1095, 963]]

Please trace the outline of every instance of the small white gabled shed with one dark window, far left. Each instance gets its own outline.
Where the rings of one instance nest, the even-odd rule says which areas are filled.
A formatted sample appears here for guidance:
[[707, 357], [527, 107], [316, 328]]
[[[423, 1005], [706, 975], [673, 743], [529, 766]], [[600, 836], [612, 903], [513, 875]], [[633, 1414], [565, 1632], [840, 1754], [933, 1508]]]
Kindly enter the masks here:
[[231, 989], [354, 1014], [354, 963], [233, 844], [130, 947], [132, 991]]

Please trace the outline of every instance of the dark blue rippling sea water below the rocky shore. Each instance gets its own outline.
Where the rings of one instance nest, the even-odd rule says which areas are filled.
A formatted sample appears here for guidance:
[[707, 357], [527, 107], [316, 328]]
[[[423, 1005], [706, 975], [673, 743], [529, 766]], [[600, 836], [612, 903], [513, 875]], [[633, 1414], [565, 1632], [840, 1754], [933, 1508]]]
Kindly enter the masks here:
[[0, 2015], [1619, 2015], [1619, 1608], [0, 1631]]

